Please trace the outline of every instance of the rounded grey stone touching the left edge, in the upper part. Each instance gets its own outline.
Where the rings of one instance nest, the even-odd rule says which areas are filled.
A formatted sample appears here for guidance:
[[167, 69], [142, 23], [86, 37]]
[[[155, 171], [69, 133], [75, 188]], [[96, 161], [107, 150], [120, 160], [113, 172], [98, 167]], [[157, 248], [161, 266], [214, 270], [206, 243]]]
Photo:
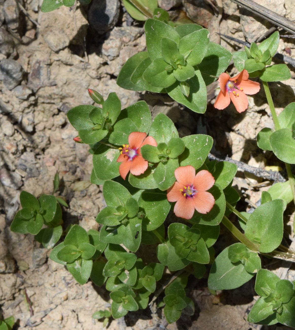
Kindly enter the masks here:
[[4, 58], [0, 61], [0, 80], [8, 89], [13, 89], [22, 80], [23, 68], [15, 60]]

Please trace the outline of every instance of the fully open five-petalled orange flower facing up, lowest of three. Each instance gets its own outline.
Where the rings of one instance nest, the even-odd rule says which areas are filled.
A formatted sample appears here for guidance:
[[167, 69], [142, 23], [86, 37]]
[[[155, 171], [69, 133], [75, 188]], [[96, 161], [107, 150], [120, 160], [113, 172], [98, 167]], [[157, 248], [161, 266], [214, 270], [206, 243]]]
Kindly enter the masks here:
[[176, 202], [174, 213], [184, 219], [191, 219], [196, 209], [206, 214], [215, 204], [214, 197], [206, 190], [215, 180], [210, 172], [201, 170], [196, 174], [191, 165], [180, 166], [174, 171], [176, 182], [167, 190], [169, 202]]

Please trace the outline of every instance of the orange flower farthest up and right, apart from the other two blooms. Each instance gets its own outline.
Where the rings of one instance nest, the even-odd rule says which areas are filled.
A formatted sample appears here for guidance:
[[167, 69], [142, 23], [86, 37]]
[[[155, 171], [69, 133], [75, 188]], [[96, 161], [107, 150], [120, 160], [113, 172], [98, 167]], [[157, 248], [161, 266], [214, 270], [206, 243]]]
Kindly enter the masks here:
[[248, 78], [249, 74], [245, 69], [233, 78], [230, 78], [227, 73], [221, 73], [218, 79], [221, 91], [216, 98], [214, 107], [222, 110], [232, 100], [238, 112], [245, 111], [248, 107], [246, 94], [256, 94], [260, 89], [259, 82], [252, 82]]

